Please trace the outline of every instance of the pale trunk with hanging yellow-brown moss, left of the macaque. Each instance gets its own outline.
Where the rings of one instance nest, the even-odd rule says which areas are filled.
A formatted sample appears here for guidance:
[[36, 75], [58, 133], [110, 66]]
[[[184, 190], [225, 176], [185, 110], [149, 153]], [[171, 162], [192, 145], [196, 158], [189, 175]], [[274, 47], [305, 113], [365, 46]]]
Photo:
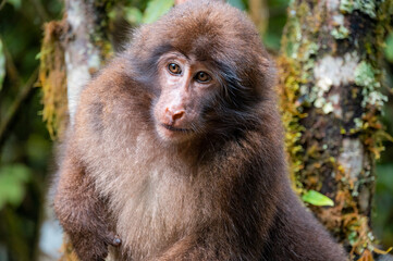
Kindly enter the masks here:
[[[65, 125], [73, 124], [81, 91], [112, 54], [106, 34], [112, 4], [111, 0], [65, 0], [63, 20], [45, 26], [39, 80], [44, 120], [53, 138], [61, 140]], [[61, 260], [77, 260], [64, 237]]]

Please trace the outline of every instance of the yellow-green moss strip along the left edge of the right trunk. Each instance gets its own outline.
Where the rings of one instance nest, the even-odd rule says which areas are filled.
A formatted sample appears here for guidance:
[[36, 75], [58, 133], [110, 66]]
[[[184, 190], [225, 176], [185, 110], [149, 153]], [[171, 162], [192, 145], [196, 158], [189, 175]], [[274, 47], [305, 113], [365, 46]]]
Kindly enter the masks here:
[[[317, 35], [321, 26], [322, 13], [312, 13], [309, 2], [293, 2], [288, 10], [288, 23], [282, 38], [279, 63], [280, 100], [283, 123], [286, 129], [285, 146], [291, 159], [290, 172], [298, 192], [303, 189], [305, 153], [302, 137], [307, 132], [300, 124], [306, 117], [305, 109], [314, 101], [309, 97], [309, 84], [314, 80], [315, 61], [321, 47]], [[307, 30], [305, 30], [307, 28]], [[317, 150], [318, 151], [318, 150]], [[307, 170], [308, 173], [308, 170]]]

